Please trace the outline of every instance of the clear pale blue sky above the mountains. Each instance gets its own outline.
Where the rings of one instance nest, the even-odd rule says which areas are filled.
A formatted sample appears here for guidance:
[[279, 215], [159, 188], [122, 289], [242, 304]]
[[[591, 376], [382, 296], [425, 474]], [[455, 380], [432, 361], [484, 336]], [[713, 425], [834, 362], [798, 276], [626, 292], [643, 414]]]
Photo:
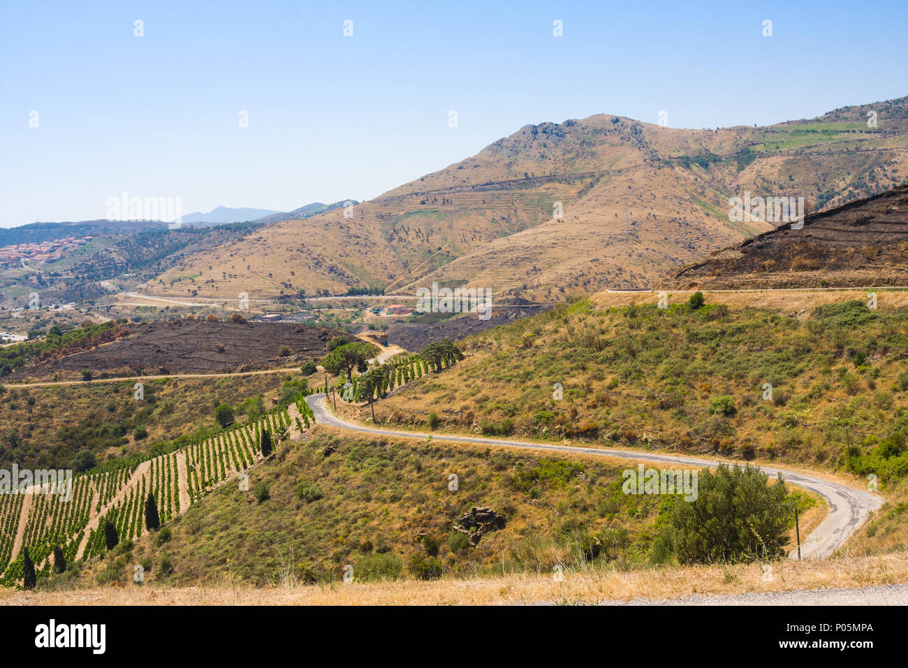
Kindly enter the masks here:
[[900, 97], [906, 19], [904, 0], [0, 0], [0, 226], [104, 218], [123, 191], [184, 214], [369, 199], [599, 113], [769, 125]]

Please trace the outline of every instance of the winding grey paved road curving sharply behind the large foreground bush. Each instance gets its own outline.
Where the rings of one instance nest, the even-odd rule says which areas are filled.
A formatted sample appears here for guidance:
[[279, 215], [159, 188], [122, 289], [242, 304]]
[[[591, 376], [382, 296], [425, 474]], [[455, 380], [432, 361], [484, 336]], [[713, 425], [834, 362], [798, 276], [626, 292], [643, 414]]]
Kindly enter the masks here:
[[[548, 450], [555, 453], [592, 454], [600, 457], [617, 457], [656, 464], [680, 464], [682, 466], [696, 466], [700, 468], [715, 467], [722, 464], [717, 460], [700, 459], [696, 457], [679, 457], [674, 454], [657, 454], [632, 450], [613, 450], [605, 448], [585, 448], [577, 445], [556, 445], [528, 443], [526, 441], [504, 441], [497, 438], [483, 438], [479, 436], [452, 436], [446, 434], [422, 434], [417, 432], [399, 432], [391, 429], [378, 429], [362, 424], [353, 424], [341, 420], [331, 413], [324, 404], [324, 394], [311, 394], [306, 397], [306, 403], [315, 414], [315, 421], [332, 427], [346, 429], [362, 434], [377, 434], [380, 436], [399, 436], [401, 438], [427, 438], [431, 435], [433, 441], [454, 441], [457, 443], [471, 443], [482, 445], [498, 445], [502, 447]], [[726, 464], [740, 464], [727, 462]], [[805, 536], [801, 543], [801, 555], [804, 559], [825, 559], [835, 552], [867, 519], [871, 511], [875, 511], [883, 503], [883, 499], [865, 490], [854, 489], [844, 484], [834, 483], [824, 478], [809, 474], [790, 471], [785, 468], [760, 466], [765, 474], [775, 478], [782, 474], [785, 481], [804, 487], [811, 492], [822, 496], [829, 505], [829, 513], [824, 521], [812, 533]], [[788, 555], [797, 559], [797, 550]]]

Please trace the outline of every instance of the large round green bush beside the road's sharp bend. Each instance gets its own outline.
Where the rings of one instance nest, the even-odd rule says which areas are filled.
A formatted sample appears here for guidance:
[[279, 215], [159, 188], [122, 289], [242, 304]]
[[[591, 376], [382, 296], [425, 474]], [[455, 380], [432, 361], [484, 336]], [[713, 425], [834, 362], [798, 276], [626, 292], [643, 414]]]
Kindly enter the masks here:
[[785, 555], [790, 503], [781, 474], [775, 484], [758, 468], [719, 464], [699, 473], [696, 500], [674, 498], [668, 514], [678, 563], [727, 563]]

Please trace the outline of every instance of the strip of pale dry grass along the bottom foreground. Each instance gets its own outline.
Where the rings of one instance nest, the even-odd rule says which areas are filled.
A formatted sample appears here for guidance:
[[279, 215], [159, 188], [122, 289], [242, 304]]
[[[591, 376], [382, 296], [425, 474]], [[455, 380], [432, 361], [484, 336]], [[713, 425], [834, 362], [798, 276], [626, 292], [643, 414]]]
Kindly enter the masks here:
[[108, 586], [59, 592], [0, 591], [4, 605], [496, 605], [607, 603], [691, 594], [787, 592], [908, 583], [908, 554], [773, 564], [767, 581], [760, 564], [653, 568], [620, 572], [548, 573], [476, 580], [328, 583], [253, 588], [226, 577], [188, 588]]

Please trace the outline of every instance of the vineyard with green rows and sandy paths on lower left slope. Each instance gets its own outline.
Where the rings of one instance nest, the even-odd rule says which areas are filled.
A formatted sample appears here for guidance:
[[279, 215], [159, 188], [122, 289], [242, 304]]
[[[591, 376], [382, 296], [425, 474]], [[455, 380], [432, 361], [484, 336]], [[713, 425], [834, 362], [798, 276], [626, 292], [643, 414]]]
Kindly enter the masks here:
[[[168, 452], [133, 455], [75, 474], [72, 494], [29, 488], [0, 494], [0, 585], [15, 587], [23, 576], [23, 548], [39, 578], [53, 568], [55, 546], [66, 563], [91, 559], [106, 550], [104, 524], [119, 540], [146, 533], [145, 500], [153, 494], [161, 523], [185, 513], [192, 503], [262, 461], [262, 433], [281, 440], [297, 437], [315, 422], [305, 397], [297, 395], [257, 420], [233, 424]], [[66, 500], [68, 497], [68, 500]]]

